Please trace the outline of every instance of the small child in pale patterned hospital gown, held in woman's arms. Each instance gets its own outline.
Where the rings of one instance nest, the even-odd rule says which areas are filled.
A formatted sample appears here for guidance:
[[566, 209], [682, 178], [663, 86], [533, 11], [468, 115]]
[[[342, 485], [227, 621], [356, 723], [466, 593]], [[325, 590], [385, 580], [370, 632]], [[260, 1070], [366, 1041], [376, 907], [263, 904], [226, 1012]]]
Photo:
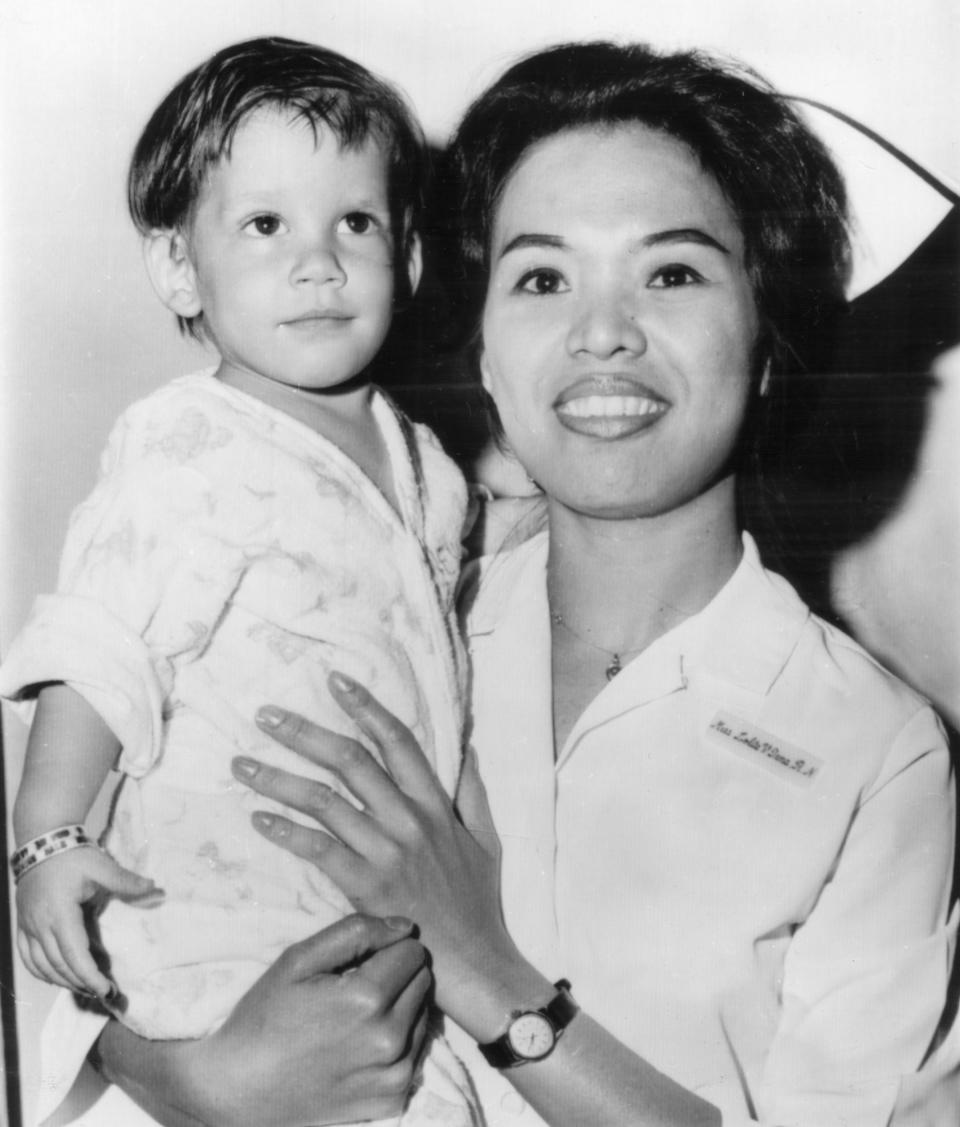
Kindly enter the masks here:
[[[15, 808], [20, 953], [142, 1036], [210, 1032], [282, 950], [350, 911], [249, 825], [264, 802], [231, 760], [304, 769], [258, 731], [259, 704], [343, 730], [326, 687], [341, 671], [455, 787], [465, 490], [368, 375], [417, 285], [420, 171], [393, 90], [284, 39], [186, 76], [134, 153], [150, 278], [220, 364], [117, 423], [0, 691], [38, 690]], [[115, 765], [103, 852], [82, 823]], [[83, 926], [103, 899], [109, 977]], [[403, 1122], [470, 1124], [468, 1092], [435, 1039]]]

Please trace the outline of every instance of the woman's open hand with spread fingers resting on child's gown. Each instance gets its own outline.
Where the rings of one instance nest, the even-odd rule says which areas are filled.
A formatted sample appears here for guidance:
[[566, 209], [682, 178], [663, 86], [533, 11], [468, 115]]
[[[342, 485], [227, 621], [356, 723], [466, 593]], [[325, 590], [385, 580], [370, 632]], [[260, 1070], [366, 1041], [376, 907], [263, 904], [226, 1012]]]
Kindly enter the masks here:
[[[363, 806], [335, 790], [254, 760], [235, 760], [238, 779], [322, 826], [257, 813], [267, 838], [321, 869], [361, 912], [401, 915], [420, 929], [430, 952], [437, 1003], [455, 1020], [491, 967], [516, 948], [499, 902], [499, 843], [472, 762], [459, 796], [460, 816], [410, 731], [362, 686], [330, 677], [334, 698], [377, 748], [268, 707], [260, 728], [335, 772]], [[466, 827], [470, 828], [466, 828]], [[326, 832], [325, 832], [326, 831]]]

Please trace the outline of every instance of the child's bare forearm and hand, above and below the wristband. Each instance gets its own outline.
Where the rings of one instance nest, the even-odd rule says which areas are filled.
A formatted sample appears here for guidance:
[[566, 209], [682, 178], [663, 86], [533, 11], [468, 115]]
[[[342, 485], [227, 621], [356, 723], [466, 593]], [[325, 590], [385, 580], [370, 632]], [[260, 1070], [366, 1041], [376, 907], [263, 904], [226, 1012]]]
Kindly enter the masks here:
[[[62, 684], [42, 689], [14, 806], [17, 846], [82, 823], [118, 752], [114, 734], [79, 693]], [[113, 984], [90, 955], [82, 906], [97, 895], [133, 899], [153, 889], [98, 849], [39, 862], [17, 885], [17, 946], [27, 969], [68, 990], [109, 994]]]

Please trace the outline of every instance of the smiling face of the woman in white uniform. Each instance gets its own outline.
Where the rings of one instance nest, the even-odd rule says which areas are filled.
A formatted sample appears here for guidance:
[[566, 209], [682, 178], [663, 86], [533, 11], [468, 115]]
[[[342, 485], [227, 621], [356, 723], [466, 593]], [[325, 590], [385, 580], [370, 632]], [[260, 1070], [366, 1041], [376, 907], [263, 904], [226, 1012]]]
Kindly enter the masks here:
[[490, 260], [483, 384], [550, 498], [622, 518], [732, 495], [758, 318], [737, 218], [690, 149], [638, 124], [540, 142]]

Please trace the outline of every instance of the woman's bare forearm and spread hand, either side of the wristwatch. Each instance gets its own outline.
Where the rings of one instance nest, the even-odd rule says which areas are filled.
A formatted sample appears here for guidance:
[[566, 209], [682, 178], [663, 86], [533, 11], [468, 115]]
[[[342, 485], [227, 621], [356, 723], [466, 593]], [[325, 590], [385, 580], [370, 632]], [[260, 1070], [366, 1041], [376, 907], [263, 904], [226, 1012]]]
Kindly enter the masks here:
[[[433, 958], [437, 1004], [478, 1044], [491, 1041], [504, 1032], [512, 1011], [537, 1008], [554, 990], [504, 926], [496, 834], [479, 779], [468, 778], [461, 788], [457, 817], [410, 733], [359, 686], [331, 678], [330, 687], [379, 748], [386, 770], [355, 740], [292, 713], [261, 711], [258, 722], [265, 730], [336, 772], [363, 809], [315, 780], [234, 761], [239, 779], [329, 833], [275, 814], [255, 815], [254, 824], [331, 877], [358, 909], [414, 920]], [[549, 1057], [506, 1076], [554, 1127], [720, 1122], [712, 1104], [586, 1013], [574, 1018]]]

